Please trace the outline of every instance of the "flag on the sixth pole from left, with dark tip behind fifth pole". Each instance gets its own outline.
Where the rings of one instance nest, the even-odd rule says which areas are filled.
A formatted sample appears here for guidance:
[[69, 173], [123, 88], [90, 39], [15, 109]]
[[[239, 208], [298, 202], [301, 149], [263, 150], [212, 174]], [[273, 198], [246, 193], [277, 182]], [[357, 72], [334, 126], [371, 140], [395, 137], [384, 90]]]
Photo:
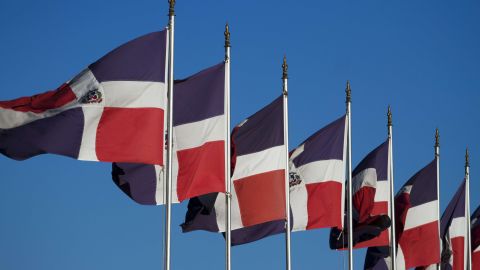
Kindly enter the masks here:
[[[433, 160], [407, 183], [395, 197], [397, 269], [440, 262], [437, 198], [437, 161]], [[364, 269], [388, 269], [388, 247], [370, 247]]]

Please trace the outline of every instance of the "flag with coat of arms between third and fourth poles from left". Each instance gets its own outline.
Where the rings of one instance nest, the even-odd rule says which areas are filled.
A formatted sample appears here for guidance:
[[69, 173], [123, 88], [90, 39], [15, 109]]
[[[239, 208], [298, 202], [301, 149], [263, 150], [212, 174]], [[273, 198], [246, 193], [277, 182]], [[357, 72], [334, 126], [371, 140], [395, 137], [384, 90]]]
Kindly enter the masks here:
[[343, 228], [347, 132], [342, 116], [291, 151], [293, 231]]

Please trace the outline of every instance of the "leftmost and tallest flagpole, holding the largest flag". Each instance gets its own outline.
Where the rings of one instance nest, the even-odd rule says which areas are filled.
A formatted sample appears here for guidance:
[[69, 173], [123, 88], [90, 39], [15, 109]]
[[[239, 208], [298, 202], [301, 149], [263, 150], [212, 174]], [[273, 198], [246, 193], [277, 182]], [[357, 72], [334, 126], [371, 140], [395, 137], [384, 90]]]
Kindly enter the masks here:
[[167, 127], [167, 181], [165, 209], [164, 269], [170, 270], [170, 227], [172, 218], [172, 145], [173, 145], [173, 37], [175, 30], [175, 0], [168, 0], [168, 127]]

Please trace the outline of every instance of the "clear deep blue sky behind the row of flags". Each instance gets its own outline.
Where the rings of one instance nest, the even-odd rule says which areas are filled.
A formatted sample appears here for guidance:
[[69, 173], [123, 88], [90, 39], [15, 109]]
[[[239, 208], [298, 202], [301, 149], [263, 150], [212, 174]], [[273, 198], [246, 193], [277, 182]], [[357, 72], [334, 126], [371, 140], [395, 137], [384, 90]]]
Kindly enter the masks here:
[[[290, 145], [344, 113], [352, 84], [353, 164], [386, 138], [394, 116], [396, 189], [433, 158], [441, 132], [441, 209], [471, 149], [472, 208], [480, 203], [480, 2], [177, 1], [177, 78], [223, 59], [232, 32], [232, 121], [281, 92], [289, 63]], [[85, 66], [167, 23], [166, 0], [1, 1], [0, 100], [54, 89]], [[110, 164], [0, 156], [0, 269], [161, 269], [163, 207], [136, 205]], [[173, 207], [172, 269], [223, 269], [220, 235], [182, 234]], [[292, 235], [294, 269], [341, 269], [328, 230]], [[355, 251], [362, 269], [364, 250]], [[233, 248], [233, 269], [283, 269], [283, 235]]]

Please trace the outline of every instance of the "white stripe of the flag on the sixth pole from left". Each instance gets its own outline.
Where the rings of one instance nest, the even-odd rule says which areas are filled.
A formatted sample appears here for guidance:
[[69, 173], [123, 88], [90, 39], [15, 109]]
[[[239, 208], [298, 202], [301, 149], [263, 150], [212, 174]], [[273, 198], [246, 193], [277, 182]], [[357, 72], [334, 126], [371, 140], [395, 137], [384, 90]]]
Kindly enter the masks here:
[[438, 201], [431, 201], [408, 209], [404, 231], [438, 221]]

